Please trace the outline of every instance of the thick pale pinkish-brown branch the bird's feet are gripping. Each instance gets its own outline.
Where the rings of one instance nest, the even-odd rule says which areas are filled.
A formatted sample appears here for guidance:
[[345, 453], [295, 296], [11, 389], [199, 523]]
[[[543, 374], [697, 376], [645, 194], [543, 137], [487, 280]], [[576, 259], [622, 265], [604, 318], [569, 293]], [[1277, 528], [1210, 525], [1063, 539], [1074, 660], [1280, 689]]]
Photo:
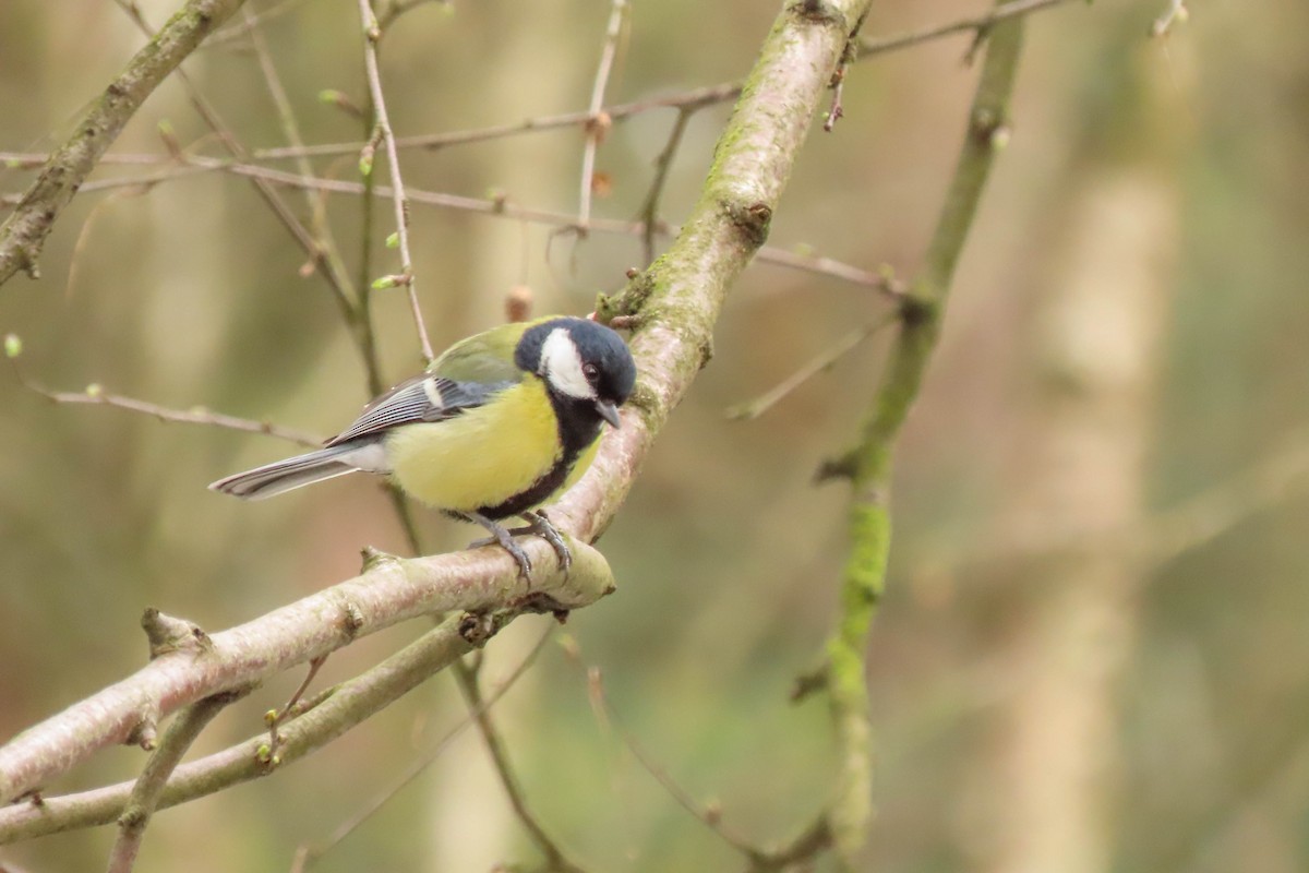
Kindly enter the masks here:
[[[556, 569], [545, 542], [524, 543], [538, 575], [534, 594], [568, 609], [613, 589], [603, 556], [573, 548], [572, 572]], [[546, 572], [548, 568], [548, 572]], [[215, 633], [203, 652], [171, 652], [0, 747], [0, 802], [39, 788], [111, 743], [126, 742], [145, 713], [166, 716], [202, 698], [258, 682], [351, 640], [419, 615], [505, 607], [525, 594], [517, 564], [499, 548], [401, 560], [382, 558], [360, 576]]]

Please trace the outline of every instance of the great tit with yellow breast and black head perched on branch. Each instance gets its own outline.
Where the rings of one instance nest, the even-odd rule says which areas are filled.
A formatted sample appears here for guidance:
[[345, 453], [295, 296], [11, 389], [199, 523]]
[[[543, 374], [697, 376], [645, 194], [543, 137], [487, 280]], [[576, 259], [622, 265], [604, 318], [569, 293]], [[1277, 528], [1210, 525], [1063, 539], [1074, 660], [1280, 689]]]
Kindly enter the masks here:
[[[524, 576], [531, 561], [514, 534], [550, 542], [567, 569], [563, 537], [535, 508], [590, 466], [602, 423], [619, 425], [618, 407], [635, 382], [631, 352], [603, 325], [568, 317], [503, 325], [452, 346], [322, 449], [209, 488], [263, 500], [356, 470], [386, 475], [420, 501], [486, 527]], [[511, 516], [528, 526], [497, 524]]]

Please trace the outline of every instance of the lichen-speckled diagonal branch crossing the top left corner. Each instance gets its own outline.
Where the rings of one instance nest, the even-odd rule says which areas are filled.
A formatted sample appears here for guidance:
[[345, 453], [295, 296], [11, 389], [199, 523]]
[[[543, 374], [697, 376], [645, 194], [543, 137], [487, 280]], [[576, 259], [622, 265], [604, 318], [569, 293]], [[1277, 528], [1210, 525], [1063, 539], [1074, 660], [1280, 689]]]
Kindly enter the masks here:
[[37, 277], [37, 258], [46, 237], [101, 156], [158, 84], [242, 3], [187, 0], [105, 88], [77, 120], [73, 135], [46, 160], [13, 215], [0, 225], [0, 285], [18, 270]]

